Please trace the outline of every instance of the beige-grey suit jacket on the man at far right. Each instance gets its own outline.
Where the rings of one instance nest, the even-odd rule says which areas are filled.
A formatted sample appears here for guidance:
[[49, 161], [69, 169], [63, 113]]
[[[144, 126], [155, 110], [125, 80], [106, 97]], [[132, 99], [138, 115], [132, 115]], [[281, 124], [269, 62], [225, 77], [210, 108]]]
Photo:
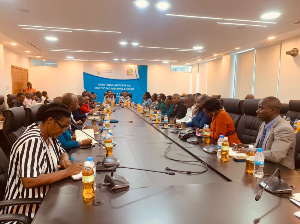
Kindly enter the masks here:
[[[264, 126], [265, 122], [259, 128], [255, 142], [256, 147]], [[296, 136], [292, 126], [278, 116], [265, 139], [266, 141], [262, 149], [265, 160], [295, 169]]]

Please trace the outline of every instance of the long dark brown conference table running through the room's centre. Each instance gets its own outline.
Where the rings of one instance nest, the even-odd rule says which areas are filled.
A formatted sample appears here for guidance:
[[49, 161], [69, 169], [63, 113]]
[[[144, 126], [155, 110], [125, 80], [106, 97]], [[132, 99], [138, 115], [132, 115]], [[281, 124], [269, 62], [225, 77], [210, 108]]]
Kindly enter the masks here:
[[[112, 107], [116, 109], [117, 107]], [[114, 156], [120, 166], [164, 171], [164, 167], [178, 170], [204, 170], [203, 165], [190, 165], [164, 157], [167, 143], [173, 143], [168, 156], [179, 160], [199, 160], [208, 165], [202, 174], [187, 175], [176, 172], [170, 176], [132, 169], [117, 169], [130, 182], [129, 189], [96, 189], [95, 206], [82, 197], [82, 182], [71, 178], [58, 181], [50, 187], [32, 223], [300, 223], [293, 214], [300, 211], [287, 195], [264, 192], [256, 202], [262, 188], [253, 175], [244, 172], [245, 163], [222, 163], [216, 154], [202, 150], [206, 143], [191, 144], [180, 140], [177, 134], [159, 125], [151, 125], [149, 117], [125, 107], [111, 114], [111, 119], [133, 123], [111, 123]], [[91, 122], [86, 120], [85, 123]], [[102, 126], [98, 126], [102, 128]], [[101, 134], [95, 135], [101, 140]], [[76, 162], [88, 156], [94, 162], [103, 162], [105, 150], [96, 145], [89, 149], [73, 148], [69, 155]], [[282, 178], [300, 193], [300, 174], [292, 169], [265, 161], [264, 172], [273, 174], [280, 168]], [[104, 183], [110, 172], [97, 172], [96, 182]]]

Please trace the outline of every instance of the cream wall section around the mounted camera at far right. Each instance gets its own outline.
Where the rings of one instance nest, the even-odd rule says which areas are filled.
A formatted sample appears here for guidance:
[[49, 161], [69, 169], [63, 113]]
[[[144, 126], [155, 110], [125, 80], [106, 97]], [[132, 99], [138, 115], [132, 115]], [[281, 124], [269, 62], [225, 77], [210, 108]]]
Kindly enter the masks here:
[[284, 40], [281, 46], [281, 61], [279, 73], [278, 99], [288, 103], [291, 99], [300, 99], [300, 55], [291, 57], [286, 51], [300, 49], [300, 36]]

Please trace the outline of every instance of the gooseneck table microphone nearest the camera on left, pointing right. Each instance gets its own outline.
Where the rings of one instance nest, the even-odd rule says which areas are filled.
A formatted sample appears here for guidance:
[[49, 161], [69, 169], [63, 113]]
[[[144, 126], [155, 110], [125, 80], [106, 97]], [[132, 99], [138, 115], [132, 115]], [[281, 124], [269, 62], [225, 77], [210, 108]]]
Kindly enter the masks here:
[[104, 182], [106, 183], [106, 186], [110, 190], [115, 190], [119, 188], [129, 187], [129, 181], [120, 175], [113, 175], [117, 168], [125, 168], [125, 169], [137, 169], [137, 170], [143, 170], [143, 171], [150, 171], [150, 172], [157, 172], [157, 173], [165, 173], [169, 175], [175, 175], [174, 172], [162, 172], [162, 171], [156, 171], [156, 170], [150, 170], [150, 169], [139, 169], [139, 168], [132, 168], [132, 167], [115, 167], [111, 174], [105, 175]]

